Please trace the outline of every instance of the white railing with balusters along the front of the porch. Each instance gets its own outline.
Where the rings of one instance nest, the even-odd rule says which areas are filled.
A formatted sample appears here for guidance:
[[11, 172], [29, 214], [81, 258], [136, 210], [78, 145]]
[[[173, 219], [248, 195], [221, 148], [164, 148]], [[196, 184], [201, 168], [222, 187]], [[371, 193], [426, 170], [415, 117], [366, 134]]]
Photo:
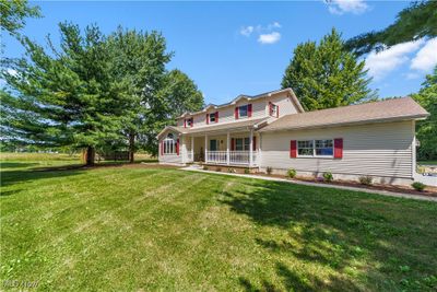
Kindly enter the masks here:
[[[206, 163], [227, 164], [227, 151], [206, 151]], [[252, 151], [252, 165], [258, 164], [258, 151]], [[229, 165], [250, 165], [250, 151], [229, 151]]]

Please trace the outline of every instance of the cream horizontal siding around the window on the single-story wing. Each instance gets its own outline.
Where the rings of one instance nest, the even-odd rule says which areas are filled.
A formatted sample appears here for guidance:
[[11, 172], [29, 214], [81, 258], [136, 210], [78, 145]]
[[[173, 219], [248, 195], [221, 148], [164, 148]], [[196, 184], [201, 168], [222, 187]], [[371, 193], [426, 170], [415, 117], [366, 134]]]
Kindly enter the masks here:
[[[343, 157], [290, 157], [291, 140], [343, 138]], [[261, 167], [411, 178], [412, 121], [262, 133]]]

